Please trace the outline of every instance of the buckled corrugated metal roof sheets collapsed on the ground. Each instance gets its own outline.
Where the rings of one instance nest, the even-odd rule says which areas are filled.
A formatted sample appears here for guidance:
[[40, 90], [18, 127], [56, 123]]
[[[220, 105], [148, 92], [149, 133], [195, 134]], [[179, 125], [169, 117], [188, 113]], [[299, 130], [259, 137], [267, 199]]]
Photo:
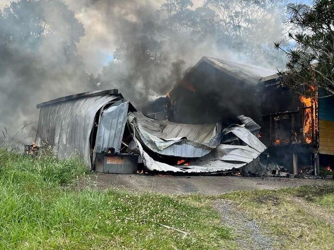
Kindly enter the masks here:
[[[253, 132], [259, 126], [249, 117], [240, 116], [243, 126], [223, 129], [219, 124], [182, 124], [158, 121], [141, 113], [128, 115], [141, 156], [150, 171], [176, 173], [211, 173], [239, 169], [256, 159], [266, 146]], [[171, 131], [171, 133], [166, 133]], [[220, 144], [233, 134], [229, 144]], [[231, 138], [231, 137], [230, 137]], [[230, 142], [243, 144], [230, 144]], [[154, 160], [152, 155], [159, 155]], [[184, 164], [170, 164], [168, 157], [179, 157]], [[188, 159], [187, 159], [188, 158]]]

